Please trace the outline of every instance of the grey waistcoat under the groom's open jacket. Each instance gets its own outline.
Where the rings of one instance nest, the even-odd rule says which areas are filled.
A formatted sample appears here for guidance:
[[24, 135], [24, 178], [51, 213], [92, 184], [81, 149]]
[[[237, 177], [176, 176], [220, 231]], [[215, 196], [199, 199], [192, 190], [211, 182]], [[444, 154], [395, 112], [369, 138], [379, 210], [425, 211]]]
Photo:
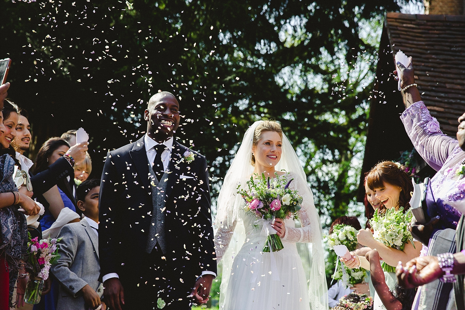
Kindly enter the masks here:
[[[150, 227], [148, 231], [146, 252], [151, 253], [153, 247], [158, 242], [159, 248], [163, 254], [166, 254], [165, 244], [165, 202], [166, 202], [166, 182], [168, 181], [168, 175], [165, 173], [162, 175], [160, 181], [158, 181], [153, 168], [150, 165], [150, 187], [152, 188], [152, 220], [150, 221]], [[162, 211], [163, 210], [163, 211]]]

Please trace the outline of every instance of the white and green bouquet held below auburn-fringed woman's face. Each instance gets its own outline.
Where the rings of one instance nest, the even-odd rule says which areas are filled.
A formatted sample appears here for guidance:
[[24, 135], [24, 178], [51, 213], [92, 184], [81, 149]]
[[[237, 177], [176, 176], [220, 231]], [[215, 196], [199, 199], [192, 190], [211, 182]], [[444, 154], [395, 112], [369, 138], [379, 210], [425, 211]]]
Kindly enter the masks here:
[[[398, 211], [394, 208], [387, 209], [385, 214], [375, 212], [370, 220], [370, 225], [373, 228], [373, 238], [384, 245], [404, 250], [407, 242], [410, 242], [413, 247], [412, 233], [407, 229], [407, 224], [412, 221], [412, 211], [408, 210], [404, 213], [404, 207], [400, 207]], [[385, 262], [381, 264], [384, 271], [394, 272], [395, 268], [387, 265]]]

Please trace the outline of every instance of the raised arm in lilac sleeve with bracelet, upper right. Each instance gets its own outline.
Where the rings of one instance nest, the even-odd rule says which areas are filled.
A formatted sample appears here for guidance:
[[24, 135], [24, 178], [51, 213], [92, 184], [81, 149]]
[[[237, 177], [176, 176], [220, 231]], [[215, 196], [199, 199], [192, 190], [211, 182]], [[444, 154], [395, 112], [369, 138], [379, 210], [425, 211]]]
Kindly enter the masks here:
[[[415, 77], [410, 57], [410, 65], [405, 68], [398, 63], [401, 87], [404, 89], [415, 84]], [[397, 71], [394, 71], [397, 74]], [[397, 77], [396, 77], [397, 78]], [[405, 131], [421, 157], [436, 171], [444, 164], [452, 150], [458, 146], [457, 140], [446, 136], [439, 129], [436, 118], [430, 115], [416, 86], [410, 86], [404, 92], [406, 110], [400, 116]]]

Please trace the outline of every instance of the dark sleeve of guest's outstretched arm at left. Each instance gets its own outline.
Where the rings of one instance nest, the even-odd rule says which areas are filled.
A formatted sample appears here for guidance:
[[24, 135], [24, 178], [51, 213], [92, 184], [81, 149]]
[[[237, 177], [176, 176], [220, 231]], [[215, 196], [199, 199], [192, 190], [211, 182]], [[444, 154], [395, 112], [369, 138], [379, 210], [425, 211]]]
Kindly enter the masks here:
[[[73, 167], [64, 158], [60, 157], [48, 168], [38, 174], [31, 175], [31, 183], [33, 187], [33, 198], [41, 196], [48, 191], [57, 183], [61, 183], [63, 180], [67, 182], [66, 177], [72, 174], [74, 177]], [[61, 188], [61, 187], [60, 187]]]

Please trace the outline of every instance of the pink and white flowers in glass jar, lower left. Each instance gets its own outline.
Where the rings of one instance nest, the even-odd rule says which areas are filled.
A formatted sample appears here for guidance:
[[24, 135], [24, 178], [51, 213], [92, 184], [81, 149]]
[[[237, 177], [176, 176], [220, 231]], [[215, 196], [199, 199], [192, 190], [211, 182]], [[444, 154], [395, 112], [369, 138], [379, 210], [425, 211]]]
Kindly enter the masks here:
[[27, 261], [32, 266], [29, 282], [27, 283], [24, 301], [28, 304], [38, 304], [42, 294], [44, 281], [48, 279], [50, 266], [60, 258], [58, 254], [57, 242], [61, 240], [47, 239], [39, 240], [38, 237], [31, 239], [31, 234], [27, 233]]

